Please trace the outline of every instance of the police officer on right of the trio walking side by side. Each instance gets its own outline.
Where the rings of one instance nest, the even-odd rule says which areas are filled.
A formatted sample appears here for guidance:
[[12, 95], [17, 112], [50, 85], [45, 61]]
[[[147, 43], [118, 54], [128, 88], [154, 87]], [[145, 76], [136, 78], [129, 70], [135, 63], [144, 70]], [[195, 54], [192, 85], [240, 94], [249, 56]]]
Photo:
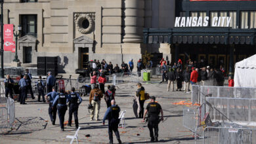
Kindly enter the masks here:
[[[80, 105], [80, 103], [82, 102], [81, 97], [79, 96], [79, 94], [77, 94], [75, 92], [75, 88], [71, 89], [71, 94], [70, 96], [70, 103], [69, 104], [69, 117], [68, 117], [68, 126], [71, 126], [72, 123], [72, 114], [74, 113], [74, 118], [75, 118], [75, 128], [78, 128], [78, 118], [77, 118], [77, 111], [78, 111], [78, 107]], [[79, 103], [78, 103], [78, 99], [79, 99]]]

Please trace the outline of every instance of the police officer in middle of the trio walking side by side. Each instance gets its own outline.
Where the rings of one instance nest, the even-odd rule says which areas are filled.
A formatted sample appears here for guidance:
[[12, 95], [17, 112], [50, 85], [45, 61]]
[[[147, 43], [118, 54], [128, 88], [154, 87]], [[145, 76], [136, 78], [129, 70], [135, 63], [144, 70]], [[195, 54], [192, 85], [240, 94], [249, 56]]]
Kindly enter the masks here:
[[64, 131], [64, 117], [65, 117], [65, 113], [68, 109], [66, 103], [68, 103], [69, 99], [70, 98], [68, 97], [68, 95], [64, 94], [64, 90], [61, 89], [60, 94], [58, 94], [53, 101], [53, 109], [54, 109], [54, 105], [58, 104], [57, 105], [58, 118], [60, 119], [60, 128], [62, 131]]

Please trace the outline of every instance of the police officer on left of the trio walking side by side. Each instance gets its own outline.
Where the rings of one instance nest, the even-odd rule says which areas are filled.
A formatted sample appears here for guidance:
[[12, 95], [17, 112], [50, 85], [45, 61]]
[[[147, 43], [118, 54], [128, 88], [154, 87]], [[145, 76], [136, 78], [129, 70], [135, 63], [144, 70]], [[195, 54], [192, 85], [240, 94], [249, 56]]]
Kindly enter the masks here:
[[53, 101], [58, 95], [58, 92], [55, 92], [55, 88], [53, 87], [53, 92], [49, 92], [45, 97], [47, 97], [47, 102], [49, 102], [49, 109], [48, 113], [51, 118], [51, 122], [53, 125], [55, 125], [56, 120], [56, 113], [57, 113], [57, 107], [56, 105], [53, 107]]

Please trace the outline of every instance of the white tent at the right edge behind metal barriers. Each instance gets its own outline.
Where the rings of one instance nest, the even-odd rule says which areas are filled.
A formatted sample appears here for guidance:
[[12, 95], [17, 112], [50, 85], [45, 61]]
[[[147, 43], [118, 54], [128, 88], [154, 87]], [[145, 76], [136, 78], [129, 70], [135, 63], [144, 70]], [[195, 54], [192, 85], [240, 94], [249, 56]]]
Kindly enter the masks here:
[[236, 63], [234, 86], [256, 88], [256, 54]]

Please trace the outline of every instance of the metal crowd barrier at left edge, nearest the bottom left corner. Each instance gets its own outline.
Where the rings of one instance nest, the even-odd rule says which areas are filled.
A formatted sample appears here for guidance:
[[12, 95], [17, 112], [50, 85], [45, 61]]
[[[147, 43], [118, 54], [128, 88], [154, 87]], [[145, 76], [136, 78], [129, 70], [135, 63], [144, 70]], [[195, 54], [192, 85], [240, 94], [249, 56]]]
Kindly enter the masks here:
[[0, 132], [6, 132], [14, 126], [15, 105], [11, 98], [0, 98]]

